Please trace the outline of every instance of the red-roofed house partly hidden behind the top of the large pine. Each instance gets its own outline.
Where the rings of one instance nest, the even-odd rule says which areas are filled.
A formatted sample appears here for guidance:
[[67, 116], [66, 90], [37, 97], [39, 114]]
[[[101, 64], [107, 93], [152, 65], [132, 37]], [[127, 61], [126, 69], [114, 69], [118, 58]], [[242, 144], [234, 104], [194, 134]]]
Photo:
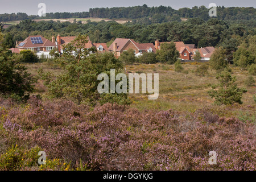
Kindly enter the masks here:
[[[52, 36], [52, 42], [54, 41], [58, 51], [60, 53], [63, 53], [63, 46], [67, 45], [68, 43], [71, 43], [72, 40], [75, 40], [76, 36], [60, 36], [57, 35], [57, 39], [55, 40], [55, 37]], [[106, 43], [92, 43], [92, 41], [90, 41], [90, 38], [88, 36], [88, 43], [85, 44], [85, 48], [89, 49], [92, 47], [96, 47], [98, 52], [108, 52], [109, 49], [106, 46]]]

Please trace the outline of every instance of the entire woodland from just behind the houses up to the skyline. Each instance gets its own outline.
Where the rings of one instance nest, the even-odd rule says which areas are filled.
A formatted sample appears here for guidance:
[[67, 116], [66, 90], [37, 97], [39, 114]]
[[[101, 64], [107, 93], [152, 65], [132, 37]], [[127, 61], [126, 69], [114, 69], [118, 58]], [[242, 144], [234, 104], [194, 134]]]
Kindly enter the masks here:
[[[160, 42], [183, 41], [196, 44], [197, 47], [224, 46], [230, 39], [233, 47], [237, 47], [241, 40], [248, 42], [255, 35], [256, 11], [253, 7], [217, 7], [217, 17], [208, 15], [205, 6], [172, 9], [170, 6], [148, 7], [113, 7], [94, 8], [82, 13], [47, 13], [44, 19], [59, 18], [110, 18], [131, 19], [125, 24], [117, 22], [71, 22], [53, 20], [35, 22], [32, 19], [41, 17], [25, 13], [1, 14], [0, 22], [22, 20], [19, 24], [10, 26], [2, 31], [5, 35], [6, 46], [15, 46], [16, 41], [23, 41], [28, 35], [42, 35], [51, 40], [57, 34], [61, 36], [76, 36], [79, 33], [88, 34], [95, 43], [110, 43], [115, 38], [134, 39], [139, 43], [151, 43], [156, 39]], [[188, 18], [181, 21], [180, 18]], [[3, 23], [2, 23], [3, 26]], [[0, 23], [0, 29], [1, 29]]]

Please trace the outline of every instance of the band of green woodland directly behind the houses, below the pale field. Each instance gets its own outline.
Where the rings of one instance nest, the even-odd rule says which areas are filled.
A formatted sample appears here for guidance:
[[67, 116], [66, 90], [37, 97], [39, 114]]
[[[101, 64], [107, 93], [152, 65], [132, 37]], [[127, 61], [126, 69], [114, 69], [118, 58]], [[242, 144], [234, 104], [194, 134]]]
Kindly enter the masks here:
[[[51, 40], [52, 36], [76, 36], [88, 34], [94, 43], [112, 43], [115, 38], [134, 39], [139, 43], [151, 43], [156, 39], [160, 42], [183, 41], [186, 44], [196, 44], [197, 47], [224, 46], [230, 44], [235, 47], [242, 40], [255, 35], [255, 28], [241, 23], [230, 23], [225, 20], [211, 18], [189, 18], [185, 22], [164, 22], [148, 24], [145, 20], [119, 24], [117, 22], [90, 22], [81, 23], [54, 22], [53, 20], [35, 22], [22, 20], [19, 24], [3, 30], [6, 46], [15, 46], [16, 41], [23, 41], [29, 35], [42, 35]], [[247, 40], [246, 40], [247, 41]]]

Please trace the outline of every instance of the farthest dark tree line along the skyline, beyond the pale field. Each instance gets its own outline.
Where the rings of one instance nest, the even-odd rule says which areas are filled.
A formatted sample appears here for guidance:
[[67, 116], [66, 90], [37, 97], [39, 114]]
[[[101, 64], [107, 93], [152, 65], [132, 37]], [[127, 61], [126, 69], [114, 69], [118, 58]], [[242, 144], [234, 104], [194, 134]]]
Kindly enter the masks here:
[[[152, 23], [169, 22], [180, 18], [201, 18], [209, 20], [209, 9], [205, 6], [194, 6], [191, 9], [184, 7], [179, 10], [170, 6], [148, 7], [147, 5], [133, 7], [91, 8], [88, 11], [77, 13], [47, 13], [46, 16], [27, 15], [26, 13], [0, 14], [0, 22], [9, 22], [25, 19], [60, 19], [60, 18], [150, 18]], [[220, 20], [255, 20], [254, 7], [217, 7], [217, 19]]]

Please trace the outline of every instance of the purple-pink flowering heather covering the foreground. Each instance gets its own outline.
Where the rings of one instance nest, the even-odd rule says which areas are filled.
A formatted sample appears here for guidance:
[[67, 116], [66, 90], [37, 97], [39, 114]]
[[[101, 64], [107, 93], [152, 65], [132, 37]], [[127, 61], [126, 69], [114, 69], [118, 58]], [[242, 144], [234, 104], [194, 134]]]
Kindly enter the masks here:
[[[1, 170], [256, 169], [255, 123], [219, 117], [210, 108], [92, 109], [34, 97], [26, 105], [0, 104]], [[46, 165], [37, 164], [39, 150], [46, 152]], [[217, 164], [208, 163], [210, 151]]]

